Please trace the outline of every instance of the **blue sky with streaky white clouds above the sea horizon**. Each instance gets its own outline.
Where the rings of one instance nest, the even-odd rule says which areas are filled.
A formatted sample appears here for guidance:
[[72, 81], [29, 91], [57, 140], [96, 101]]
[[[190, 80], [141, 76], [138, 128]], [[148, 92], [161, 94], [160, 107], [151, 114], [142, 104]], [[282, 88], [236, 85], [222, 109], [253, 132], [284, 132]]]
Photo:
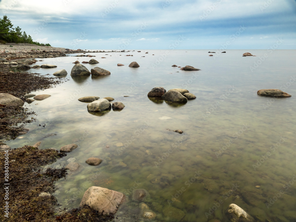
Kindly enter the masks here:
[[295, 0], [0, 0], [0, 17], [69, 49], [296, 49]]

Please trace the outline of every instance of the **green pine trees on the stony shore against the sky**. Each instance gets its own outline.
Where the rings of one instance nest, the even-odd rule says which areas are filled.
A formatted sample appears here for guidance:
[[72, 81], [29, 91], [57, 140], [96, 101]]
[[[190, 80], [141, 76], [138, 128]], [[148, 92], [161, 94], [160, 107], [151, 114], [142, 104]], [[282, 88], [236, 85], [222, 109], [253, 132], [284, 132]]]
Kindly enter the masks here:
[[13, 25], [9, 18], [4, 15], [3, 19], [0, 18], [0, 43], [5, 44], [6, 42], [13, 43], [29, 43], [35, 44], [38, 46], [51, 46], [49, 43], [43, 44], [39, 42], [34, 42], [30, 35], [27, 35], [25, 31], [21, 31], [22, 29], [17, 26], [16, 28], [12, 28]]

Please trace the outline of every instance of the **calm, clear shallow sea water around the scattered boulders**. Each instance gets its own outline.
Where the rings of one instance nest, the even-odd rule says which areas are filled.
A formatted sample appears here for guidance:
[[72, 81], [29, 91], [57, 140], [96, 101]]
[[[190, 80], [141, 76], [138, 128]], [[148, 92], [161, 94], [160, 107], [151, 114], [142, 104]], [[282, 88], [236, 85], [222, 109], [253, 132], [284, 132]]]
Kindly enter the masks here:
[[[245, 52], [256, 57], [242, 57]], [[296, 221], [295, 50], [228, 50], [213, 57], [208, 50], [90, 54], [99, 64], [85, 66], [107, 69], [110, 76], [72, 78], [72, 62], [90, 59], [75, 54], [37, 63], [58, 67], [32, 72], [65, 69], [68, 81], [35, 92], [51, 97], [25, 104], [37, 121], [7, 142], [12, 148], [37, 141], [41, 149], [79, 145], [51, 165], [65, 166], [72, 157], [82, 165], [56, 183], [62, 207], [79, 207], [86, 189], [102, 186], [127, 195], [119, 220], [145, 221], [132, 192], [146, 189], [143, 202], [157, 214], [155, 221], [226, 221], [231, 203], [258, 221]], [[140, 67], [128, 67], [133, 61]], [[182, 105], [149, 99], [157, 86], [187, 89], [197, 98]], [[292, 97], [260, 97], [259, 89], [282, 89]], [[77, 100], [83, 96], [111, 96], [126, 107], [93, 115]], [[89, 157], [104, 161], [90, 166]]]

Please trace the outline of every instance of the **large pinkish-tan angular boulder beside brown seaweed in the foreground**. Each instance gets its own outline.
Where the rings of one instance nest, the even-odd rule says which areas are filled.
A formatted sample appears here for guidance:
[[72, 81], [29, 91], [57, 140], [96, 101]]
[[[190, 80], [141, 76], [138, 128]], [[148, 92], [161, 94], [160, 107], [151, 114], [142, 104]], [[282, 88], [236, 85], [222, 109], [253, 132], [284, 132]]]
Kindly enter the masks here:
[[114, 214], [124, 200], [125, 195], [123, 193], [99, 186], [91, 186], [84, 193], [80, 207], [89, 206], [98, 211], [98, 214]]

